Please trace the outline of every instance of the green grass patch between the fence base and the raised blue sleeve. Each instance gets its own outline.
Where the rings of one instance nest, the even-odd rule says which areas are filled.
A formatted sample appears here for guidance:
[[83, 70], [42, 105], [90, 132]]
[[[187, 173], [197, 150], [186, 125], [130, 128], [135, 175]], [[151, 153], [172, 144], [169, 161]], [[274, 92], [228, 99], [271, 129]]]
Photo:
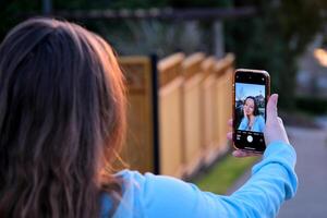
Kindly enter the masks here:
[[203, 191], [226, 194], [234, 182], [258, 160], [258, 157], [235, 158], [231, 155], [217, 161], [194, 183]]

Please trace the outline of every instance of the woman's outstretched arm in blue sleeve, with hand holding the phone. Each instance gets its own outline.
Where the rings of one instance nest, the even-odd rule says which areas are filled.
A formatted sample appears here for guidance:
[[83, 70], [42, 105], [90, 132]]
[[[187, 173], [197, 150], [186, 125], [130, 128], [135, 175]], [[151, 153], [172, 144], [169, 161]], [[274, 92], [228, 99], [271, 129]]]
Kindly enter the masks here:
[[[264, 134], [268, 146], [263, 160], [253, 167], [251, 179], [240, 190], [231, 196], [221, 196], [202, 192], [179, 180], [147, 175], [145, 184], [156, 194], [152, 196], [152, 192], [145, 192], [146, 210], [153, 216], [160, 211], [161, 217], [275, 217], [281, 204], [294, 196], [298, 187], [296, 155], [278, 118], [277, 100], [278, 96], [271, 95], [267, 105]], [[235, 150], [233, 155], [244, 157], [252, 154]]]

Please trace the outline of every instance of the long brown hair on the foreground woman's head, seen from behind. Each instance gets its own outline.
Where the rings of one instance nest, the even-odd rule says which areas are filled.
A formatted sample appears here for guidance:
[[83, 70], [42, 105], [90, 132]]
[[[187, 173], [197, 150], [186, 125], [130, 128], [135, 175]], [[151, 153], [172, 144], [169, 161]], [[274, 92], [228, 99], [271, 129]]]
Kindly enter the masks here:
[[124, 96], [98, 35], [53, 19], [15, 26], [0, 47], [0, 216], [98, 217], [101, 193], [120, 187], [108, 169]]

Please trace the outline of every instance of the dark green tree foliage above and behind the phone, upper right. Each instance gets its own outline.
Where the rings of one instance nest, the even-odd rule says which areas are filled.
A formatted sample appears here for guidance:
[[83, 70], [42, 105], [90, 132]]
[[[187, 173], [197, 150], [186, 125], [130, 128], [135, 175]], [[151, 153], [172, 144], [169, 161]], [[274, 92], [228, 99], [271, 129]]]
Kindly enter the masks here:
[[296, 58], [322, 31], [327, 9], [323, 0], [242, 1], [255, 4], [256, 17], [225, 23], [227, 50], [238, 57], [237, 65], [265, 69], [272, 92], [280, 94], [284, 109], [294, 108]]

